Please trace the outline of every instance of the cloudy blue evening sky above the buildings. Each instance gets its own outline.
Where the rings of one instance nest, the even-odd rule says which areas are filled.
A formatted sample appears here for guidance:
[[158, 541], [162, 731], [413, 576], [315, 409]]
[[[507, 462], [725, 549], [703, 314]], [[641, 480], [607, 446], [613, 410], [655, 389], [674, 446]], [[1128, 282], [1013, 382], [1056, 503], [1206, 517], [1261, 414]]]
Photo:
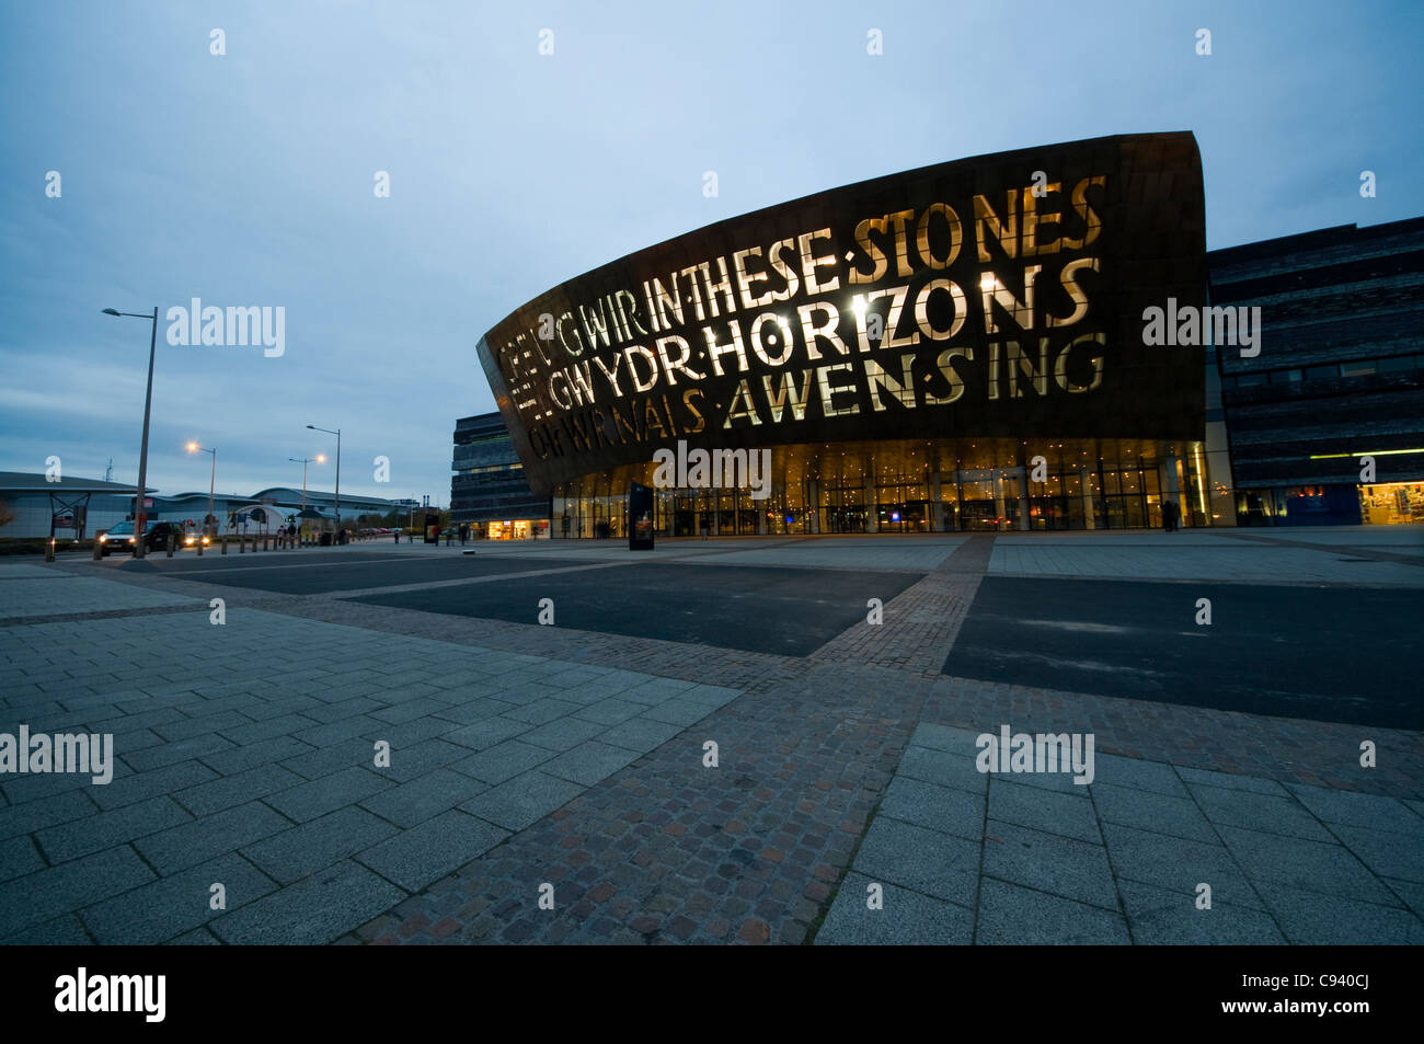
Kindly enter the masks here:
[[1421, 38], [1413, 0], [7, 3], [0, 470], [137, 480], [148, 325], [105, 306], [286, 309], [281, 357], [159, 323], [150, 486], [206, 489], [191, 439], [219, 491], [299, 484], [288, 457], [335, 449], [313, 423], [343, 430], [343, 491], [446, 504], [456, 419], [494, 409], [490, 326], [750, 209], [1190, 130], [1212, 248], [1418, 216]]

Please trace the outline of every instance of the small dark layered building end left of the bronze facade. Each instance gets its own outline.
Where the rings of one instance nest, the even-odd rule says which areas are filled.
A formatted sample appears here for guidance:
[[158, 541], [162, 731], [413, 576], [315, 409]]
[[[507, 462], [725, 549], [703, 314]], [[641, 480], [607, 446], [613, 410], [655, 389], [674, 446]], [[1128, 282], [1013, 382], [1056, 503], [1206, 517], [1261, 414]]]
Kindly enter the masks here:
[[498, 413], [463, 417], [454, 426], [450, 521], [467, 523], [491, 540], [548, 537], [548, 497], [524, 477]]

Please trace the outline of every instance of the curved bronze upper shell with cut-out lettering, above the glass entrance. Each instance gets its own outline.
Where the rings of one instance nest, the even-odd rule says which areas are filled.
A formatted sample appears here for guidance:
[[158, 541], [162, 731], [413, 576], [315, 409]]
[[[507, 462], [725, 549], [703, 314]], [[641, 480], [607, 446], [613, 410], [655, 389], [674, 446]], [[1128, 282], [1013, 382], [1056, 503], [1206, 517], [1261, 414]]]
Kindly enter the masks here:
[[1189, 134], [941, 164], [605, 265], [478, 352], [535, 490], [678, 439], [1193, 437], [1202, 352], [1141, 315], [1205, 305], [1203, 212]]

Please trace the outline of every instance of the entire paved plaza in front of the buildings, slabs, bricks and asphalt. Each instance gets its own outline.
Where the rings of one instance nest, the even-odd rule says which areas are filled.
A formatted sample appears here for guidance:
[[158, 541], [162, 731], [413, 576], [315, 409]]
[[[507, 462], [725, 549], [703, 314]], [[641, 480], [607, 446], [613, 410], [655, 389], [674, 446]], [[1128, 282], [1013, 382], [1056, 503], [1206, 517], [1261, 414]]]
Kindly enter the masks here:
[[0, 560], [0, 734], [115, 755], [0, 941], [1420, 943], [1421, 634], [1410, 527]]

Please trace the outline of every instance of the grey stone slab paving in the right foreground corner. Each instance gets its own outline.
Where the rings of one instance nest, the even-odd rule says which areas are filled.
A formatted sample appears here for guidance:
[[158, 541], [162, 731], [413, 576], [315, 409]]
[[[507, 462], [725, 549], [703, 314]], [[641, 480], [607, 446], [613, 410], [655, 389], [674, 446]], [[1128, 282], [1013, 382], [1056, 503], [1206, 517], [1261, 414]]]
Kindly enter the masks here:
[[1424, 809], [1112, 755], [1085, 785], [985, 773], [978, 751], [914, 731], [817, 944], [1424, 943]]

